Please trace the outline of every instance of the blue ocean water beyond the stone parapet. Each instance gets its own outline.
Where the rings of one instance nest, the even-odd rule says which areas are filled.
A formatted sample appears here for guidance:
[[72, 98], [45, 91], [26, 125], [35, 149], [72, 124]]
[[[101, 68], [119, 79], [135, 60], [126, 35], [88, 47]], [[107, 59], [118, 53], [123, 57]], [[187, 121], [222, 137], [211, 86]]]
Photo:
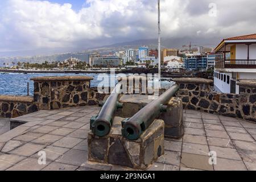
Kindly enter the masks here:
[[[110, 79], [110, 74], [105, 74]], [[97, 87], [100, 82], [102, 82], [102, 76], [98, 74], [85, 74], [80, 73], [79, 75], [75, 73], [0, 73], [0, 95], [14, 95], [14, 96], [27, 96], [27, 83], [29, 83], [29, 94], [33, 96], [34, 94], [34, 81], [31, 81], [32, 77], [41, 76], [90, 76], [94, 79], [91, 81], [92, 87]], [[112, 76], [113, 78], [114, 76]], [[104, 78], [105, 84], [108, 84], [106, 78]], [[170, 88], [174, 83], [169, 81], [162, 81], [162, 88]]]

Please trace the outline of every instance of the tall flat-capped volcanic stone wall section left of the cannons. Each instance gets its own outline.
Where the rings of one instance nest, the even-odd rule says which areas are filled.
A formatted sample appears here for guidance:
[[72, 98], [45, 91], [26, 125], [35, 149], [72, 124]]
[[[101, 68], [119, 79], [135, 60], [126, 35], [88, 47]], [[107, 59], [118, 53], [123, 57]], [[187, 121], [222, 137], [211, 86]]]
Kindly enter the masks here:
[[40, 110], [97, 105], [105, 95], [90, 88], [91, 77], [37, 77], [34, 80], [34, 101]]

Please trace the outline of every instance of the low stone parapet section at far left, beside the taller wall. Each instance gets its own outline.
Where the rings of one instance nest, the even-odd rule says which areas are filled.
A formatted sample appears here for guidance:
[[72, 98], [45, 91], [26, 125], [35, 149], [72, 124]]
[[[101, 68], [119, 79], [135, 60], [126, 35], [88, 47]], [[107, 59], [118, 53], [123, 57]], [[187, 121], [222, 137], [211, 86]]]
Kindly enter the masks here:
[[0, 96], [0, 117], [16, 118], [35, 111], [38, 111], [38, 106], [32, 97]]

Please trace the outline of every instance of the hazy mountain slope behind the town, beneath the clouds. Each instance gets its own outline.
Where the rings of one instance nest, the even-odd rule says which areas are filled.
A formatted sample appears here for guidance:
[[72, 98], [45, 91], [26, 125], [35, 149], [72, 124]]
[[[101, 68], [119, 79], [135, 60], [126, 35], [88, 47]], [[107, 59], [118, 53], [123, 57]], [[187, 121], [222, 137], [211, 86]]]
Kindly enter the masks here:
[[[183, 45], [187, 45], [190, 42], [193, 45], [203, 46], [203, 47], [216, 47], [217, 44], [221, 41], [221, 38], [163, 38], [162, 39], [162, 47], [163, 48], [178, 48], [182, 49]], [[108, 46], [96, 47], [85, 49], [84, 51], [78, 52], [66, 52], [66, 53], [56, 53], [61, 52], [63, 49], [54, 49], [52, 50], [52, 54], [46, 55], [48, 49], [36, 49], [34, 51], [19, 51], [13, 52], [13, 55], [22, 55], [22, 56], [10, 56], [11, 52], [8, 52], [9, 56], [0, 57], [0, 65], [3, 63], [8, 63], [11, 65], [12, 62], [18, 63], [20, 62], [28, 62], [28, 63], [43, 63], [44, 61], [52, 62], [52, 61], [64, 61], [69, 57], [76, 57], [80, 60], [88, 62], [88, 55], [92, 52], [99, 52], [102, 55], [113, 53], [115, 51], [122, 51], [127, 48], [138, 48], [140, 46], [148, 46], [149, 48], [155, 49], [158, 48], [158, 40], [157, 39], [142, 39], [142, 40], [133, 40], [131, 42], [123, 42], [123, 43], [115, 43]], [[68, 48], [66, 48], [68, 49]], [[69, 48], [72, 50], [72, 48]], [[185, 48], [184, 48], [185, 49]], [[65, 50], [64, 50], [65, 51]], [[23, 56], [23, 55], [31, 55], [34, 54], [36, 56]], [[2, 53], [2, 55], [4, 55]], [[1, 53], [0, 53], [1, 56]]]

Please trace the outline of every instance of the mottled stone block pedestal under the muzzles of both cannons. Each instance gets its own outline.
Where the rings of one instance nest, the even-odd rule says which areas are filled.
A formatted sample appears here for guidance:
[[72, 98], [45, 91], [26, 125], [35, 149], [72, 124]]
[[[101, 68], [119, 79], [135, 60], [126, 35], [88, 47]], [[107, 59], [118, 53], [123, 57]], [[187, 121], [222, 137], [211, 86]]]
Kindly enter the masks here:
[[90, 162], [147, 169], [164, 154], [164, 121], [156, 119], [141, 138], [131, 141], [122, 137], [123, 119], [114, 118], [112, 130], [106, 137], [88, 134], [88, 159]]

